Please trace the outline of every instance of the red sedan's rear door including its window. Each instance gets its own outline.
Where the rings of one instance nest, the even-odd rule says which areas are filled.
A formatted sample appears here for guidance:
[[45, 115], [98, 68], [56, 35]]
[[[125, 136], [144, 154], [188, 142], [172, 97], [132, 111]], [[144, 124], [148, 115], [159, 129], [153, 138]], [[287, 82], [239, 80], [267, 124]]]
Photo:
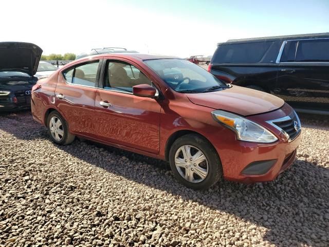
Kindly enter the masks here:
[[69, 67], [59, 74], [56, 106], [67, 120], [70, 132], [94, 137], [99, 72], [100, 60], [93, 60]]

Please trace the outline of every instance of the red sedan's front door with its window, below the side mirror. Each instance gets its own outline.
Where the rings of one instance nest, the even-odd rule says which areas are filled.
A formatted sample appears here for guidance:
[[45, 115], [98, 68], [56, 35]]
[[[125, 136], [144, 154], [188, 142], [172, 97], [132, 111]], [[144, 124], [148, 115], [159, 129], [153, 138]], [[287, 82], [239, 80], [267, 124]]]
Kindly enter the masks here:
[[139, 150], [159, 152], [160, 104], [133, 95], [133, 86], [153, 83], [141, 67], [127, 60], [104, 63], [103, 85], [95, 100], [98, 139]]

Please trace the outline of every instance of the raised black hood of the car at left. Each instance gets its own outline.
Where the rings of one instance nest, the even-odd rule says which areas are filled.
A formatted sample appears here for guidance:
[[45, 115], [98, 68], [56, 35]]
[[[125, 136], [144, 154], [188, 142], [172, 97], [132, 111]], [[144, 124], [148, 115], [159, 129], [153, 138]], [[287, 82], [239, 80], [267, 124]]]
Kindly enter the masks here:
[[41, 54], [42, 49], [31, 43], [0, 42], [0, 70], [20, 71], [33, 76]]

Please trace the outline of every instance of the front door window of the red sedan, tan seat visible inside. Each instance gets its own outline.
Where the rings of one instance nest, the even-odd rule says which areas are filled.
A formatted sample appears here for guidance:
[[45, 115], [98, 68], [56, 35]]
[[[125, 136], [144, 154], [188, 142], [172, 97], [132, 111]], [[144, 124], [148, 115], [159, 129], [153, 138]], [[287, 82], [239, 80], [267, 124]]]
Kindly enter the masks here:
[[133, 92], [133, 86], [152, 85], [152, 82], [131, 64], [108, 61], [106, 64], [104, 89]]

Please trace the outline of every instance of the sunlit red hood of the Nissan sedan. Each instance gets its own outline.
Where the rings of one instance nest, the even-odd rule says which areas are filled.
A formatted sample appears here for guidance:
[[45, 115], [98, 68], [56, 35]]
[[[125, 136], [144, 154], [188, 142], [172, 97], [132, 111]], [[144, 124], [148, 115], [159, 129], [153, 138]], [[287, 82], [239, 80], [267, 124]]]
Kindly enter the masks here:
[[194, 104], [242, 116], [270, 112], [284, 104], [282, 99], [271, 94], [235, 85], [222, 91], [187, 94], [187, 97]]

